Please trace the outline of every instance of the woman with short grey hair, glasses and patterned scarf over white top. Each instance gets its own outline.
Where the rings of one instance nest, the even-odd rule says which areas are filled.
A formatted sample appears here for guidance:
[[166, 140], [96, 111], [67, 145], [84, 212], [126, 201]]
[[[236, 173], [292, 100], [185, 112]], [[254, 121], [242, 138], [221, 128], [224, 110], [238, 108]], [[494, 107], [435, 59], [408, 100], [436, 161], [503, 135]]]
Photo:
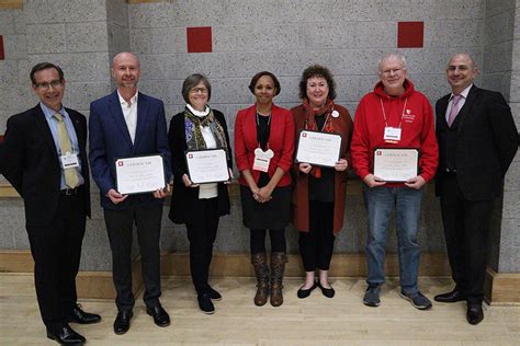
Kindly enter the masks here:
[[191, 277], [199, 308], [206, 314], [215, 312], [212, 300], [222, 299], [221, 293], [210, 286], [208, 276], [218, 220], [229, 214], [229, 195], [227, 182], [193, 184], [184, 153], [186, 150], [222, 148], [226, 151], [229, 176], [233, 177], [226, 120], [222, 112], [207, 105], [211, 95], [212, 86], [206, 77], [199, 73], [188, 77], [182, 84], [186, 106], [171, 118], [168, 132], [173, 171], [169, 218], [186, 227]]

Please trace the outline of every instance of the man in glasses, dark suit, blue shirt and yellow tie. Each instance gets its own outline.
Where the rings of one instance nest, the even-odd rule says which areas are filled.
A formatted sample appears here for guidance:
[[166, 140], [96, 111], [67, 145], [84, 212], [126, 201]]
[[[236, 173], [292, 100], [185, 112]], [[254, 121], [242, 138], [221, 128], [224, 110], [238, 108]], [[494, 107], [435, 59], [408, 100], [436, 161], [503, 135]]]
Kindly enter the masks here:
[[39, 104], [8, 120], [0, 147], [0, 173], [22, 196], [34, 258], [34, 284], [47, 337], [81, 344], [84, 337], [69, 322], [95, 323], [100, 315], [77, 303], [86, 219], [90, 217], [87, 120], [65, 108], [63, 70], [41, 62], [31, 70]]

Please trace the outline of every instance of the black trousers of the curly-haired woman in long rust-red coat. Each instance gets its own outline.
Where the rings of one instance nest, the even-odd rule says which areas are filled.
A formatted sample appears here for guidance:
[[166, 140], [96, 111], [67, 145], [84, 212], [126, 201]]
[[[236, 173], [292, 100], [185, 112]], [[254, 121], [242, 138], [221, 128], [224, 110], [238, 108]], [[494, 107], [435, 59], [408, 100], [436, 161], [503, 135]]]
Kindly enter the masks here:
[[305, 272], [328, 270], [334, 251], [334, 203], [309, 200], [309, 231], [299, 232], [299, 253]]

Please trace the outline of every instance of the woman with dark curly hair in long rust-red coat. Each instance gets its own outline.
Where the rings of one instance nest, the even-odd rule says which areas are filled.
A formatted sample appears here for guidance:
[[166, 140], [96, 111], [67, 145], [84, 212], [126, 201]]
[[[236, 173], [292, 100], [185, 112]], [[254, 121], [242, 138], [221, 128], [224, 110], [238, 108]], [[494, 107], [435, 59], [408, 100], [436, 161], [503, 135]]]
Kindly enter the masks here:
[[[293, 195], [293, 223], [299, 231], [299, 252], [304, 264], [305, 284], [298, 298], [306, 298], [319, 287], [332, 298], [328, 281], [335, 235], [343, 226], [347, 187], [348, 152], [352, 136], [349, 111], [334, 103], [336, 84], [330, 71], [319, 65], [305, 69], [299, 81], [303, 104], [291, 109], [296, 135], [303, 129], [341, 136], [340, 159], [334, 168], [313, 166], [306, 162], [293, 165], [296, 183]], [[319, 277], [315, 279], [318, 269]]]

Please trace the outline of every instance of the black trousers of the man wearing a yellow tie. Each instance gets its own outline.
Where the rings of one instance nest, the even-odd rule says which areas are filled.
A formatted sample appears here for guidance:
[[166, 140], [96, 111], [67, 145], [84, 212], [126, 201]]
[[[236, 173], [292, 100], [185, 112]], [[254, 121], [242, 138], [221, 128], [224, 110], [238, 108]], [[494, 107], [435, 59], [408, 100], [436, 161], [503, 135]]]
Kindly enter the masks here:
[[80, 188], [77, 195], [60, 195], [49, 226], [27, 227], [39, 313], [50, 331], [67, 323], [78, 298], [76, 275], [86, 226], [83, 193]]

